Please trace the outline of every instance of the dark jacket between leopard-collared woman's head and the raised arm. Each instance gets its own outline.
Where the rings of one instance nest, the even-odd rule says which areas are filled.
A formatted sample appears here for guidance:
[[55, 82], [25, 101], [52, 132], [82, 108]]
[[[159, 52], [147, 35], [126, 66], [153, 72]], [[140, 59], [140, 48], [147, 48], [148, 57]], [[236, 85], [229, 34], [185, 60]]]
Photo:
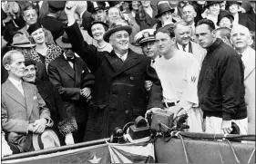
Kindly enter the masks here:
[[46, 15], [44, 18], [39, 19], [39, 22], [53, 34], [54, 41], [62, 34], [64, 34], [63, 26], [64, 24], [60, 21], [58, 21], [53, 16]]

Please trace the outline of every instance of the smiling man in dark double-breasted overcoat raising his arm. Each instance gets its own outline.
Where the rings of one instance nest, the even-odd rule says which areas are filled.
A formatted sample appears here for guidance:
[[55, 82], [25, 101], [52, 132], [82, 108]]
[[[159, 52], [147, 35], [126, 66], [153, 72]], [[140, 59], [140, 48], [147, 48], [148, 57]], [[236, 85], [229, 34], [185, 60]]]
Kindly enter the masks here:
[[[98, 52], [83, 41], [74, 19], [75, 10], [76, 5], [67, 2], [66, 33], [74, 51], [95, 74], [85, 140], [108, 138], [116, 127], [162, 108], [161, 84], [150, 59], [129, 49], [129, 25], [110, 25], [103, 38], [113, 51]], [[144, 88], [147, 80], [153, 82], [149, 92]]]

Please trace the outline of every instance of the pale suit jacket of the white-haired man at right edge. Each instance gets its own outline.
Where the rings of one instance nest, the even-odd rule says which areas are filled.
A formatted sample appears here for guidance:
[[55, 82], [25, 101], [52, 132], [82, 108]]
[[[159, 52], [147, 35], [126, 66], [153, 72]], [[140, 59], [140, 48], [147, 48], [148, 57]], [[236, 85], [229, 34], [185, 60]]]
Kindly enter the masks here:
[[247, 57], [244, 63], [244, 85], [245, 85], [245, 103], [248, 116], [248, 133], [255, 134], [255, 51], [250, 47], [243, 53]]

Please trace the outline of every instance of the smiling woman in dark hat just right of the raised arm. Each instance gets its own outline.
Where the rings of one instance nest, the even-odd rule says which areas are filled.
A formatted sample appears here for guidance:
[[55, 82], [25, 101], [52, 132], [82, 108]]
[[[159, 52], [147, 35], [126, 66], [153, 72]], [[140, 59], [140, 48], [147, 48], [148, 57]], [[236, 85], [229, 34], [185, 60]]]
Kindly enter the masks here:
[[97, 41], [97, 51], [98, 52], [108, 52], [113, 50], [110, 43], [107, 43], [103, 39], [103, 35], [108, 31], [108, 24], [103, 22], [94, 21], [88, 28], [88, 34]]

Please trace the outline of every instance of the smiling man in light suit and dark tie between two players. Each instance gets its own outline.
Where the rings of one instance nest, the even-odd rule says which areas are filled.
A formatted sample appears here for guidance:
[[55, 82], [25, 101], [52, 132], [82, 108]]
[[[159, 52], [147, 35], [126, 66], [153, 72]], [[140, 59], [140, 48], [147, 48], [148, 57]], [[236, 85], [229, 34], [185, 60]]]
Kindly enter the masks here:
[[191, 29], [187, 22], [180, 21], [174, 24], [176, 46], [179, 51], [192, 53], [199, 61], [200, 65], [206, 54], [206, 50], [201, 48], [198, 43], [191, 41]]

